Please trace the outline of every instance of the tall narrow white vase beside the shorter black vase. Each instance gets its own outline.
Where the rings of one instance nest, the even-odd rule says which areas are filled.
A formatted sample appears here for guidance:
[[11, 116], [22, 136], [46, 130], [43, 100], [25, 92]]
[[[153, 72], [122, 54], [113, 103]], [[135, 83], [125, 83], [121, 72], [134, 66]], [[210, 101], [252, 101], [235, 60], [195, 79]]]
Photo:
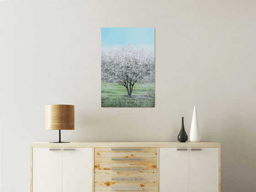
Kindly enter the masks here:
[[194, 107], [193, 117], [192, 117], [192, 123], [190, 128], [190, 136], [189, 140], [191, 142], [199, 142], [201, 139], [200, 132], [199, 132], [199, 125], [197, 120], [197, 108]]

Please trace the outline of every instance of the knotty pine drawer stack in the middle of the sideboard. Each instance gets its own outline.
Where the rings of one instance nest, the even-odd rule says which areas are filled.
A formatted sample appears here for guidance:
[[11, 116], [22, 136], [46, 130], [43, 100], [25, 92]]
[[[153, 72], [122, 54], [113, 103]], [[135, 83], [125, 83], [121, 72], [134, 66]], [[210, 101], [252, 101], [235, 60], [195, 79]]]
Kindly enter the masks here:
[[95, 192], [156, 191], [157, 148], [95, 148]]

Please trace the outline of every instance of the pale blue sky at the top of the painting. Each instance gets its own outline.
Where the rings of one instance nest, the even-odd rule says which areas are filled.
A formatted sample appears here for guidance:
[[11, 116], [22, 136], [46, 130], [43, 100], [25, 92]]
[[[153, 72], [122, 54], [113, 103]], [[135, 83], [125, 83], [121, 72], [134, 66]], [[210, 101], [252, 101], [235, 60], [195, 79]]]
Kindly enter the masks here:
[[155, 50], [154, 27], [101, 27], [101, 50], [126, 46]]

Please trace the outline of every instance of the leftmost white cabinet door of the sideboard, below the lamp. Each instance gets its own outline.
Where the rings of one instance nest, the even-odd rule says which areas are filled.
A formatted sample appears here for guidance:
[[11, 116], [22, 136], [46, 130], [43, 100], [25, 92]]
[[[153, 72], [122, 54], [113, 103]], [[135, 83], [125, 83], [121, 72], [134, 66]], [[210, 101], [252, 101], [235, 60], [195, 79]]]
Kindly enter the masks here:
[[33, 192], [61, 192], [61, 162], [61, 150], [33, 148]]

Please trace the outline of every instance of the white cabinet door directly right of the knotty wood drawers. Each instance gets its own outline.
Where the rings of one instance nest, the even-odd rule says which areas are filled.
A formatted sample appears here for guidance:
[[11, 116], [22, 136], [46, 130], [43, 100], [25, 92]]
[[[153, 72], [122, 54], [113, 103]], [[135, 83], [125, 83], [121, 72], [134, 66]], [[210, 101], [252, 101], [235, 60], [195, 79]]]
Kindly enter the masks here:
[[188, 192], [188, 150], [160, 148], [159, 152], [159, 192]]

